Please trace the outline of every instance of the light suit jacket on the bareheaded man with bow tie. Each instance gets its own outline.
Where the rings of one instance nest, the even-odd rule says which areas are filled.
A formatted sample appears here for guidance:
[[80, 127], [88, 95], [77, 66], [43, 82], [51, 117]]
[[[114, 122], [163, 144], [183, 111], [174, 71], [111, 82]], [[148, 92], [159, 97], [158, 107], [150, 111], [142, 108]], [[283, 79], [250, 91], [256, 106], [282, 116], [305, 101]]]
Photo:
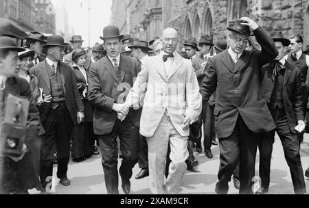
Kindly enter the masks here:
[[152, 137], [167, 112], [176, 131], [182, 136], [189, 136], [189, 127], [182, 128], [183, 120], [185, 116], [196, 120], [202, 110], [202, 98], [192, 63], [175, 53], [172, 66], [165, 73], [162, 57], [163, 54], [145, 60], [126, 103], [137, 109], [139, 97], [146, 91], [141, 135]]

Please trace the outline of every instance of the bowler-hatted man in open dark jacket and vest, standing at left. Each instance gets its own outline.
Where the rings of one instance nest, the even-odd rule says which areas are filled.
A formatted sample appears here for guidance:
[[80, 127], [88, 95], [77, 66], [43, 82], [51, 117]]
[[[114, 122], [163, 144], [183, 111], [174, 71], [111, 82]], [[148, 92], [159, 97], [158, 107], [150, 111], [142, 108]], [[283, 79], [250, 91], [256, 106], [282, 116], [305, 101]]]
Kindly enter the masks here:
[[[41, 183], [46, 188], [53, 173], [53, 155], [57, 151], [57, 177], [62, 185], [70, 185], [67, 179], [67, 165], [70, 157], [70, 131], [73, 125], [84, 118], [84, 106], [73, 70], [61, 62], [65, 42], [61, 36], [49, 36], [44, 45], [47, 57], [31, 69], [38, 78], [38, 88], [43, 88], [43, 96], [51, 95], [50, 103], [39, 107], [42, 125], [46, 131], [41, 145]], [[47, 187], [49, 188], [49, 187]]]

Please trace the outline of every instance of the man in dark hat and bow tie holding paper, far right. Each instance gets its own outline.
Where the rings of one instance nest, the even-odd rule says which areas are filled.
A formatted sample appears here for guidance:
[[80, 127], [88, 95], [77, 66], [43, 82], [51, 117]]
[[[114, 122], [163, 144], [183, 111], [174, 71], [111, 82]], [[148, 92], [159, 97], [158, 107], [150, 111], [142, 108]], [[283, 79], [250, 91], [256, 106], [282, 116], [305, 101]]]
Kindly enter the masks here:
[[271, 34], [279, 55], [262, 68], [262, 94], [271, 111], [276, 129], [264, 133], [260, 139], [260, 177], [262, 193], [268, 192], [269, 174], [271, 170], [271, 153], [275, 131], [279, 135], [284, 148], [284, 155], [294, 185], [296, 194], [306, 193], [304, 172], [299, 155], [300, 144], [295, 127], [304, 123], [304, 113], [301, 96], [301, 72], [284, 59], [284, 49], [290, 40], [284, 38], [281, 32]]

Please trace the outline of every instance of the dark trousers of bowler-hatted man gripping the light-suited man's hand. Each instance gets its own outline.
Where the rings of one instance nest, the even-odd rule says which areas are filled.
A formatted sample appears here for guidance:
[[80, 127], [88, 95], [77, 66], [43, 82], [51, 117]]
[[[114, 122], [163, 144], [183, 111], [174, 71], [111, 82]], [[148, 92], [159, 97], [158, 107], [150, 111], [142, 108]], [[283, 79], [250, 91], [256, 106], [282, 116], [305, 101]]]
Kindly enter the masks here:
[[127, 117], [123, 122], [116, 120], [111, 133], [98, 135], [99, 148], [102, 155], [105, 186], [108, 194], [119, 194], [118, 191], [118, 148], [117, 138], [120, 140], [122, 164], [119, 174], [122, 181], [129, 181], [132, 168], [139, 159], [139, 129]]

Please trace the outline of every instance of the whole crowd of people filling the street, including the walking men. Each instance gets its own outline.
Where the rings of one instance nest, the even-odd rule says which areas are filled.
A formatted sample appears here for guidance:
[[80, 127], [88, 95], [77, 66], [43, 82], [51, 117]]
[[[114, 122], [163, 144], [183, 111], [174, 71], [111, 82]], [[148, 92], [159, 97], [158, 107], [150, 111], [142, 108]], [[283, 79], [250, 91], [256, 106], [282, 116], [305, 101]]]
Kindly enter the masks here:
[[[82, 37], [73, 36], [69, 51], [62, 36], [30, 31], [21, 37], [4, 30], [1, 122], [12, 110], [9, 94], [26, 98], [29, 107], [17, 155], [5, 151], [16, 145], [3, 139], [0, 125], [1, 194], [48, 194], [54, 163], [60, 184], [70, 185], [69, 159], [98, 154], [108, 194], [119, 194], [119, 175], [122, 190], [130, 193], [137, 163], [135, 179], [149, 177], [152, 194], [178, 194], [185, 170], [198, 166], [194, 148], [211, 159], [212, 145], [220, 149], [217, 194], [228, 193], [232, 178], [240, 194], [253, 194], [258, 149], [259, 193], [265, 194], [275, 133], [295, 194], [306, 193], [309, 168], [304, 173], [299, 151], [309, 133], [309, 50], [302, 50], [299, 34], [268, 34], [242, 17], [227, 27], [228, 42], [203, 34], [179, 46], [172, 27], [148, 41], [109, 25], [100, 37], [104, 44], [85, 51]], [[25, 44], [18, 46], [18, 39]]]

